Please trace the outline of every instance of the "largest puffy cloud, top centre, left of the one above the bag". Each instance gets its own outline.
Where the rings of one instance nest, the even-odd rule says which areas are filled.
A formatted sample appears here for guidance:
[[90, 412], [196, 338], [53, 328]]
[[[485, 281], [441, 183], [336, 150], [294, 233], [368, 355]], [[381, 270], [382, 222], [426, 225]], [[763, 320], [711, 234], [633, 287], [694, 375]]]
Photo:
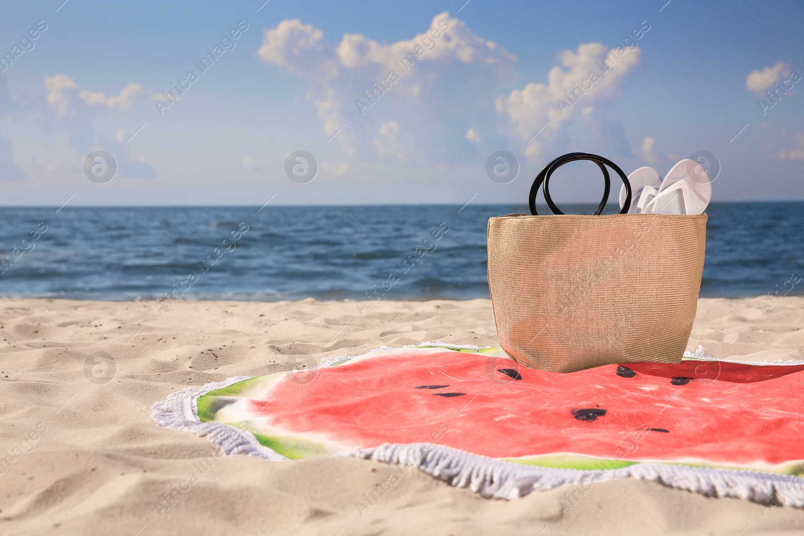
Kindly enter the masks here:
[[285, 20], [265, 31], [258, 54], [309, 81], [306, 99], [324, 133], [338, 133], [352, 157], [471, 150], [484, 129], [494, 130], [490, 104], [515, 80], [514, 55], [446, 12], [412, 39], [388, 44], [358, 34], [330, 43], [318, 28]]

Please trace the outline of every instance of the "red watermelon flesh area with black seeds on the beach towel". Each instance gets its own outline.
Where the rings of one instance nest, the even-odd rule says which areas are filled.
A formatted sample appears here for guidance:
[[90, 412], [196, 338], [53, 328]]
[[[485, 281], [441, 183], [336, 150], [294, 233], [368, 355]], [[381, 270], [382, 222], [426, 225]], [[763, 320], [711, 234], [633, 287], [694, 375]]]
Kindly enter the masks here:
[[[330, 452], [430, 442], [492, 458], [627, 451], [633, 461], [741, 467], [804, 459], [804, 365], [685, 360], [560, 374], [408, 348], [262, 378], [207, 418]], [[206, 396], [215, 395], [224, 393]]]

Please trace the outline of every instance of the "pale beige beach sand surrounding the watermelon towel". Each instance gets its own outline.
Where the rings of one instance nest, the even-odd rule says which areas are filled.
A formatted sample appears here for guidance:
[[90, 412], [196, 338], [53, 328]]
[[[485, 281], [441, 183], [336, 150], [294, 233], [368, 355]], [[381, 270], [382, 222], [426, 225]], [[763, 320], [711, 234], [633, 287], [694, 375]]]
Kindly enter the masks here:
[[[436, 339], [496, 346], [490, 301], [380, 302], [364, 317], [355, 303], [312, 299], [178, 302], [162, 316], [154, 302], [0, 304], [0, 456], [12, 461], [0, 468], [0, 534], [804, 534], [802, 509], [654, 482], [600, 483], [562, 516], [567, 488], [487, 500], [414, 469], [361, 517], [355, 503], [396, 468], [353, 458], [226, 456], [160, 516], [162, 493], [214, 449], [157, 428], [154, 402], [188, 386], [285, 370], [298, 356]], [[801, 359], [802, 328], [804, 298], [702, 299], [688, 348]], [[114, 359], [109, 383], [84, 374], [97, 351]], [[36, 440], [26, 441], [31, 433]]]

